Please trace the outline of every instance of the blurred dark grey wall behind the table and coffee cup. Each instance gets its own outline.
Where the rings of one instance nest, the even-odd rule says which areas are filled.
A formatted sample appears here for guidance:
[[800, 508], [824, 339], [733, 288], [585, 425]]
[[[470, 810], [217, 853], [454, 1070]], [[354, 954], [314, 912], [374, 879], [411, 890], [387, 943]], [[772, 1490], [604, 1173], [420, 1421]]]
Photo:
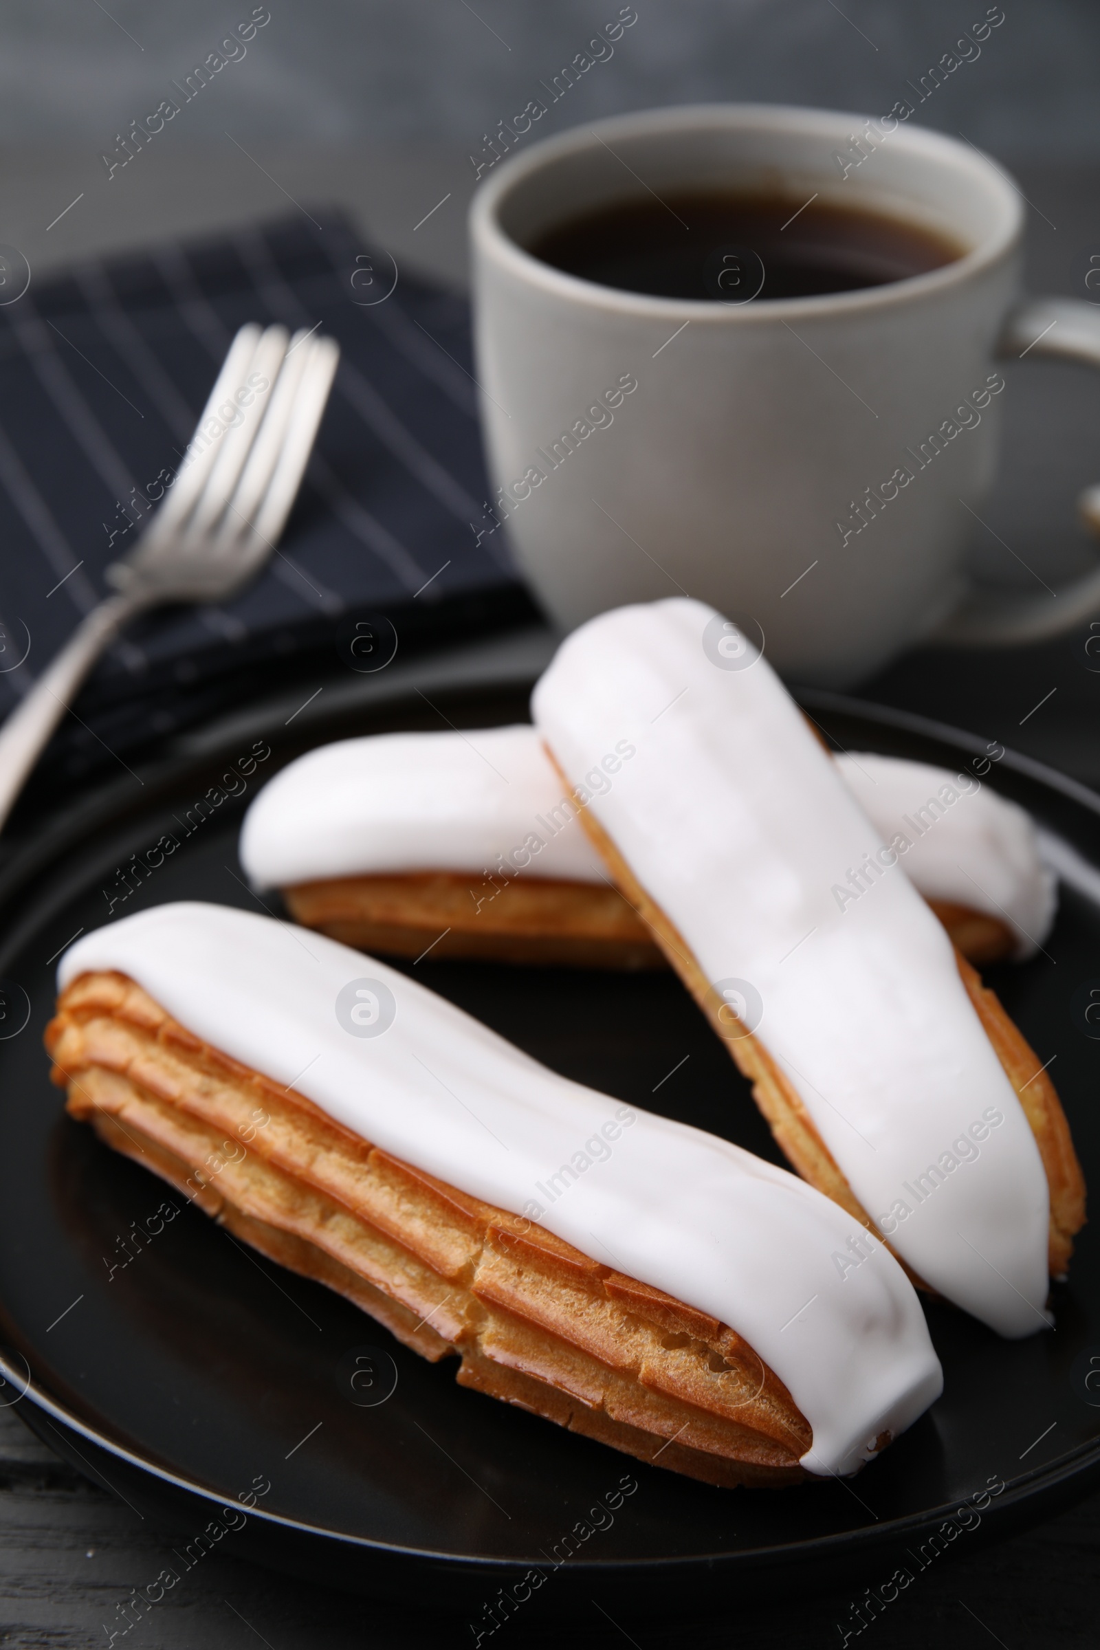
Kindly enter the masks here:
[[[251, 0], [107, 10], [8, 0], [0, 137], [96, 148], [163, 96]], [[269, 0], [272, 21], [218, 101], [188, 111], [181, 142], [221, 135], [463, 150], [528, 84], [581, 51], [618, 0]], [[986, 15], [986, 0], [637, 0], [613, 63], [577, 89], [571, 120], [658, 102], [764, 99], [881, 112]], [[1090, 0], [1004, 0], [981, 59], [937, 94], [930, 124], [958, 120], [1009, 160], [1079, 158], [1100, 144]], [[114, 20], [114, 21], [112, 21]], [[48, 71], [48, 73], [46, 73]], [[572, 96], [572, 94], [571, 94]], [[940, 96], [943, 107], [940, 107]], [[947, 104], [950, 102], [950, 112]], [[564, 111], [562, 111], [564, 112]]]

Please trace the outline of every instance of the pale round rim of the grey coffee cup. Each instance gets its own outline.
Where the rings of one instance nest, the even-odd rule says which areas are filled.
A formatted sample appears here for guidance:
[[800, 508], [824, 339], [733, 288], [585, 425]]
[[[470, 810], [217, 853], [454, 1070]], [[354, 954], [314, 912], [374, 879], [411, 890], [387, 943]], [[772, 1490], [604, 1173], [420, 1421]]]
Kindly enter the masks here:
[[613, 142], [653, 132], [689, 132], [707, 127], [726, 130], [792, 130], [826, 132], [834, 137], [841, 127], [844, 135], [858, 130], [867, 116], [844, 114], [836, 109], [811, 109], [800, 104], [673, 104], [658, 109], [642, 109], [630, 114], [609, 116], [582, 127], [569, 127], [554, 137], [533, 144], [523, 153], [510, 155], [495, 177], [478, 185], [470, 203], [470, 241], [475, 251], [491, 256], [498, 266], [536, 285], [552, 297], [584, 302], [590, 309], [609, 314], [653, 317], [656, 320], [691, 320], [704, 325], [765, 325], [773, 320], [798, 317], [843, 315], [853, 310], [884, 310], [917, 302], [950, 290], [999, 262], [1019, 243], [1024, 210], [1021, 195], [1009, 175], [983, 150], [963, 145], [953, 137], [930, 127], [897, 124], [889, 134], [910, 153], [950, 160], [963, 165], [991, 193], [999, 196], [1001, 224], [970, 252], [942, 264], [938, 269], [905, 276], [879, 287], [858, 287], [853, 292], [823, 292], [815, 297], [769, 299], [764, 304], [727, 305], [711, 299], [670, 299], [646, 292], [628, 292], [622, 287], [605, 287], [582, 276], [571, 276], [552, 264], [543, 262], [524, 251], [500, 223], [506, 196], [519, 188], [533, 173], [562, 157], [594, 148], [592, 139]]

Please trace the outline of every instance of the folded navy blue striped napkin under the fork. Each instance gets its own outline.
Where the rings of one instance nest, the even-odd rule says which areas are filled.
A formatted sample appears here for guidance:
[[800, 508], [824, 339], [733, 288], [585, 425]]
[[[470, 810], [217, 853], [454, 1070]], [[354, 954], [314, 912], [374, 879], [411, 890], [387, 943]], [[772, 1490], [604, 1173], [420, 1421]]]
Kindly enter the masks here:
[[89, 262], [0, 307], [0, 713], [107, 594], [104, 568], [135, 543], [236, 328], [320, 323], [341, 346], [279, 554], [224, 607], [127, 630], [81, 696], [86, 733], [63, 731], [73, 774], [97, 738], [124, 751], [170, 733], [219, 683], [239, 693], [242, 670], [317, 648], [346, 610], [389, 614], [402, 637], [523, 614], [503, 535], [477, 543], [468, 307], [404, 272], [364, 304], [393, 274], [341, 214], [313, 210]]

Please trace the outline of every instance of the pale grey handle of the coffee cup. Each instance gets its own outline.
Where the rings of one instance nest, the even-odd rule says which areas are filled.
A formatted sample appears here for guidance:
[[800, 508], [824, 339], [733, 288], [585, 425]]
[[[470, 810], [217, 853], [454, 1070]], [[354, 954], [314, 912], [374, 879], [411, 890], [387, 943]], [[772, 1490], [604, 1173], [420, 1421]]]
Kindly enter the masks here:
[[[999, 360], [1088, 361], [1100, 368], [1100, 305], [1082, 299], [1026, 299], [1004, 323]], [[1100, 483], [1077, 498], [1082, 520], [1100, 536]], [[1057, 599], [975, 591], [927, 637], [947, 647], [1014, 647], [1046, 642], [1100, 615], [1100, 564]]]

